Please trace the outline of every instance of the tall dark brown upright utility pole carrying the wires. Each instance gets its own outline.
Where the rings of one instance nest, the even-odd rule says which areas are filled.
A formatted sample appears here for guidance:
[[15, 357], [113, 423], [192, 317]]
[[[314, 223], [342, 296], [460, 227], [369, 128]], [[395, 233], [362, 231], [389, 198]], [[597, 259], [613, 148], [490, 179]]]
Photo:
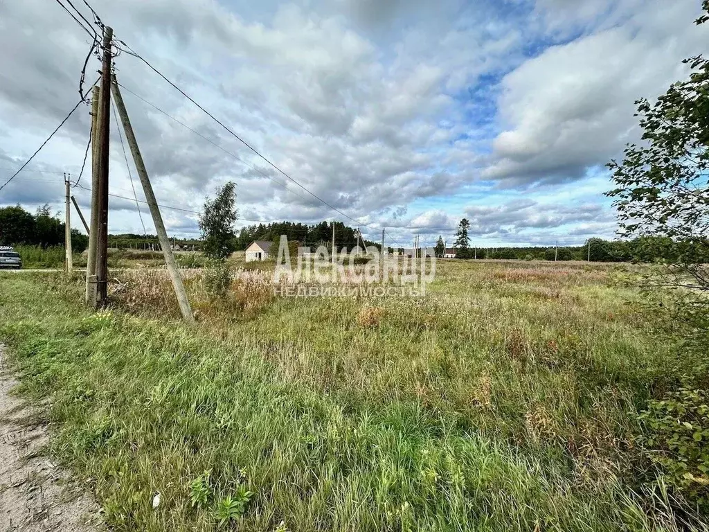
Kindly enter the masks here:
[[101, 93], [99, 94], [99, 131], [96, 144], [99, 149], [99, 234], [96, 240], [96, 306], [108, 302], [108, 161], [111, 134], [111, 40], [113, 29], [104, 28], [101, 62]]

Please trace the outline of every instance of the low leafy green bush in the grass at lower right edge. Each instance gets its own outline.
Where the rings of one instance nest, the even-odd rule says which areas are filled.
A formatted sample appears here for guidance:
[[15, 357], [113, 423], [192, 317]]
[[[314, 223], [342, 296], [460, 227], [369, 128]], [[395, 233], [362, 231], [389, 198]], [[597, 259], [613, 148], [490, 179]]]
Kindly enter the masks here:
[[640, 414], [638, 438], [647, 458], [658, 465], [666, 484], [709, 511], [709, 406], [700, 389], [680, 388], [648, 401]]

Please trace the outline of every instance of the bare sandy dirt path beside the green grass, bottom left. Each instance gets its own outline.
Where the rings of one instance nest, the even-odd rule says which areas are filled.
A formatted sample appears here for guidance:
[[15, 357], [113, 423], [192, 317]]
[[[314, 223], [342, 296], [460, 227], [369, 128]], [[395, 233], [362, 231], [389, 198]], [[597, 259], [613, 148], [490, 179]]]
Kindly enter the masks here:
[[47, 427], [9, 394], [0, 344], [0, 532], [99, 531], [99, 506], [42, 452]]

